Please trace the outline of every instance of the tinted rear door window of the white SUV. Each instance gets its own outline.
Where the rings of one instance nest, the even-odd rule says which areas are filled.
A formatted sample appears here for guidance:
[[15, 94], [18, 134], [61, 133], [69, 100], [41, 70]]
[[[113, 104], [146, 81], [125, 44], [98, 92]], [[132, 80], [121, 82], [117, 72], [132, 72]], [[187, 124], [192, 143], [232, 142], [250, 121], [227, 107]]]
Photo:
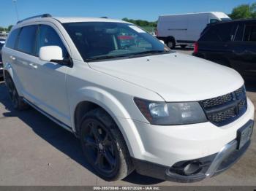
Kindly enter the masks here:
[[34, 44], [37, 35], [37, 26], [25, 26], [18, 37], [17, 49], [21, 52], [34, 55]]

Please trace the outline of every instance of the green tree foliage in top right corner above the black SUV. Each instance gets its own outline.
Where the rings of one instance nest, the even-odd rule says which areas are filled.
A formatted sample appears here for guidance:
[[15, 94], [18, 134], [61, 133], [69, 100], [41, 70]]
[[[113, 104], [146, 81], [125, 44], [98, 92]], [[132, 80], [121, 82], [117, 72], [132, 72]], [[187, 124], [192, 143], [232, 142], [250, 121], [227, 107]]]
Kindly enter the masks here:
[[232, 19], [256, 18], [256, 3], [241, 4], [235, 7], [230, 14]]

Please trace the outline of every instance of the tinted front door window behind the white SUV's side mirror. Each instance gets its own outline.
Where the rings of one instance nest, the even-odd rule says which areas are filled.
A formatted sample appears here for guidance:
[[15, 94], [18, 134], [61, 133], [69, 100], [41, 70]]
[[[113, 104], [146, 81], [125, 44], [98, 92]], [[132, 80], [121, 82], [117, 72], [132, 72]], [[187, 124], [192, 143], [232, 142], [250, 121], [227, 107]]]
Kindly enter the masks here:
[[63, 58], [68, 58], [69, 56], [66, 47], [59, 37], [59, 34], [57, 34], [56, 31], [50, 26], [40, 25], [37, 39], [37, 55], [39, 55], [40, 47], [45, 46], [59, 46], [62, 49]]

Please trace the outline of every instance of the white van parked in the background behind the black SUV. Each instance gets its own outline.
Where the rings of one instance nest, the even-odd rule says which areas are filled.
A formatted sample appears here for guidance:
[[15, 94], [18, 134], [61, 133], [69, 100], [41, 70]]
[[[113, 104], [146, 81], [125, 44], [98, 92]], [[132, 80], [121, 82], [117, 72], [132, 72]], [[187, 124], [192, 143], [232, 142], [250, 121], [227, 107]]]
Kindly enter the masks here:
[[160, 15], [157, 22], [157, 38], [168, 47], [186, 47], [199, 39], [209, 23], [231, 20], [223, 12], [198, 12], [179, 15]]

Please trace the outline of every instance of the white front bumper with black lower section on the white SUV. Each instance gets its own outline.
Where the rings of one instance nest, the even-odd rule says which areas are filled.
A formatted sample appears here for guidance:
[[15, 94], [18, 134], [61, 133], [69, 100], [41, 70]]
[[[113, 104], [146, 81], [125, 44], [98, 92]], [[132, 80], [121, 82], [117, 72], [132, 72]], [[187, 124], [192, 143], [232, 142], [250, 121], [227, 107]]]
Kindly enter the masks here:
[[[123, 127], [123, 130], [127, 130], [126, 133], [123, 133], [124, 139], [127, 141], [130, 155], [135, 159], [134, 163], [138, 173], [158, 179], [195, 182], [224, 171], [244, 154], [246, 149], [244, 152], [243, 149], [238, 152], [236, 149], [235, 151], [232, 149], [237, 144], [236, 141], [232, 141], [236, 140], [237, 132], [241, 127], [250, 120], [254, 120], [255, 108], [249, 99], [247, 99], [247, 103], [247, 110], [241, 117], [222, 127], [217, 127], [211, 122], [173, 126], [151, 125], [121, 117], [118, 118], [118, 122], [120, 122], [118, 125]], [[230, 143], [233, 145], [231, 149], [228, 149], [233, 153], [227, 157], [230, 160], [218, 165], [216, 169], [214, 168], [211, 171], [213, 173], [206, 173], [214, 158]], [[201, 171], [200, 176], [198, 174], [189, 177], [174, 176], [172, 171], [169, 171], [177, 163], [194, 159], [210, 161], [204, 171]], [[223, 161], [225, 160], [223, 159]]]

